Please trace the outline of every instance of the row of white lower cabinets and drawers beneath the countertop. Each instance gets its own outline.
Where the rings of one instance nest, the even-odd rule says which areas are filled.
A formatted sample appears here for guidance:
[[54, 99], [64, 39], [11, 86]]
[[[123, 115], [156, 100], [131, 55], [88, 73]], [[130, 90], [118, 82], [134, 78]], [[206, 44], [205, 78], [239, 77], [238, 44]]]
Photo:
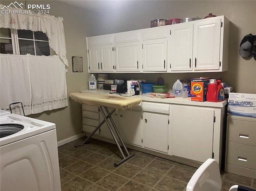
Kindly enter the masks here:
[[[203, 163], [208, 158], [213, 158], [221, 165], [226, 104], [211, 102], [202, 106], [203, 103], [197, 103], [185, 105], [143, 101], [132, 110], [115, 111], [112, 118], [124, 143], [133, 149], [137, 147], [143, 152], [159, 153], [162, 157], [166, 155], [168, 159], [178, 162], [186, 159]], [[98, 106], [83, 104], [82, 116], [83, 131], [89, 133], [103, 120]], [[231, 133], [232, 131], [228, 132]], [[100, 137], [102, 140], [113, 140], [106, 123], [96, 132], [95, 138], [101, 139]], [[248, 145], [255, 150], [255, 145]], [[230, 143], [229, 153], [232, 153], [231, 150]], [[229, 158], [231, 156], [228, 154]]]

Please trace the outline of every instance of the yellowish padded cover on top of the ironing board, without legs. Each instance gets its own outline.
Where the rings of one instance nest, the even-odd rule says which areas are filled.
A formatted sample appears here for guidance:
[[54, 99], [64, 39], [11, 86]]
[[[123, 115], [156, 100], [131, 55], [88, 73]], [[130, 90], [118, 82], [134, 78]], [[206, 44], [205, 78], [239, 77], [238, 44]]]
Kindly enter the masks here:
[[82, 104], [106, 106], [116, 110], [126, 110], [140, 104], [142, 99], [125, 96], [114, 96], [99, 93], [71, 93], [70, 97]]

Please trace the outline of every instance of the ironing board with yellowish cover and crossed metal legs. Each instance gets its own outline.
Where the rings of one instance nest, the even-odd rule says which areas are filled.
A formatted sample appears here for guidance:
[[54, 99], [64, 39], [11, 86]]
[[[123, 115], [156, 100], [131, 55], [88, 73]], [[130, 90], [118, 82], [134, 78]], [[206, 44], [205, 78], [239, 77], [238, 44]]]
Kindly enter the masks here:
[[[116, 128], [116, 124], [114, 123], [114, 120], [112, 119], [111, 115], [118, 109], [126, 110], [128, 108], [132, 108], [134, 106], [137, 106], [142, 101], [140, 98], [134, 98], [134, 97], [125, 97], [125, 96], [114, 96], [114, 95], [106, 95], [106, 94], [99, 94], [99, 93], [71, 93], [70, 97], [74, 101], [78, 101], [81, 104], [88, 104], [88, 105], [96, 105], [99, 106], [100, 112], [103, 116], [102, 122], [96, 127], [96, 129], [86, 138], [86, 140], [79, 145], [76, 145], [75, 147], [82, 146], [83, 144], [86, 144], [89, 139], [92, 137], [92, 135], [106, 122], [110, 133], [112, 134], [114, 141], [116, 142], [116, 145], [123, 157], [120, 161], [117, 163], [114, 163], [114, 166], [117, 167], [124, 161], [132, 158], [135, 154], [129, 154], [126, 146], [124, 145], [124, 141], [122, 140], [122, 137], [120, 133], [118, 132], [118, 129]], [[107, 107], [113, 108], [111, 111], [108, 110]], [[103, 110], [105, 109], [105, 112]], [[110, 125], [110, 120], [112, 126]], [[124, 152], [122, 151], [120, 144], [118, 143], [118, 140], [114, 134], [114, 131], [116, 132], [124, 151], [126, 152], [126, 156], [124, 155]]]

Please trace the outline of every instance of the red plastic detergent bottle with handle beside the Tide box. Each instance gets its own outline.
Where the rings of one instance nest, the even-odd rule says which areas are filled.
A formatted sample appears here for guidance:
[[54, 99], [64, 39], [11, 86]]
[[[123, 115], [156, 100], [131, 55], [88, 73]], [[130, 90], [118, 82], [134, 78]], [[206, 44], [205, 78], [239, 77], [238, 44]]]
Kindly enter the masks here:
[[224, 100], [224, 88], [220, 79], [210, 79], [208, 90], [206, 93], [206, 101], [219, 102]]

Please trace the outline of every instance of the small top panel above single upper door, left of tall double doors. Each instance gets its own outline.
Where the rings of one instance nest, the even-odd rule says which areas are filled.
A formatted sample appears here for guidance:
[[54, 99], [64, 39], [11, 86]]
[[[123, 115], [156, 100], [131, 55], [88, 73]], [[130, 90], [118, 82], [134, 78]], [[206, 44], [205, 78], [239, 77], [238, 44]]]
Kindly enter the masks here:
[[152, 40], [159, 38], [167, 38], [166, 27], [142, 29], [142, 40]]

